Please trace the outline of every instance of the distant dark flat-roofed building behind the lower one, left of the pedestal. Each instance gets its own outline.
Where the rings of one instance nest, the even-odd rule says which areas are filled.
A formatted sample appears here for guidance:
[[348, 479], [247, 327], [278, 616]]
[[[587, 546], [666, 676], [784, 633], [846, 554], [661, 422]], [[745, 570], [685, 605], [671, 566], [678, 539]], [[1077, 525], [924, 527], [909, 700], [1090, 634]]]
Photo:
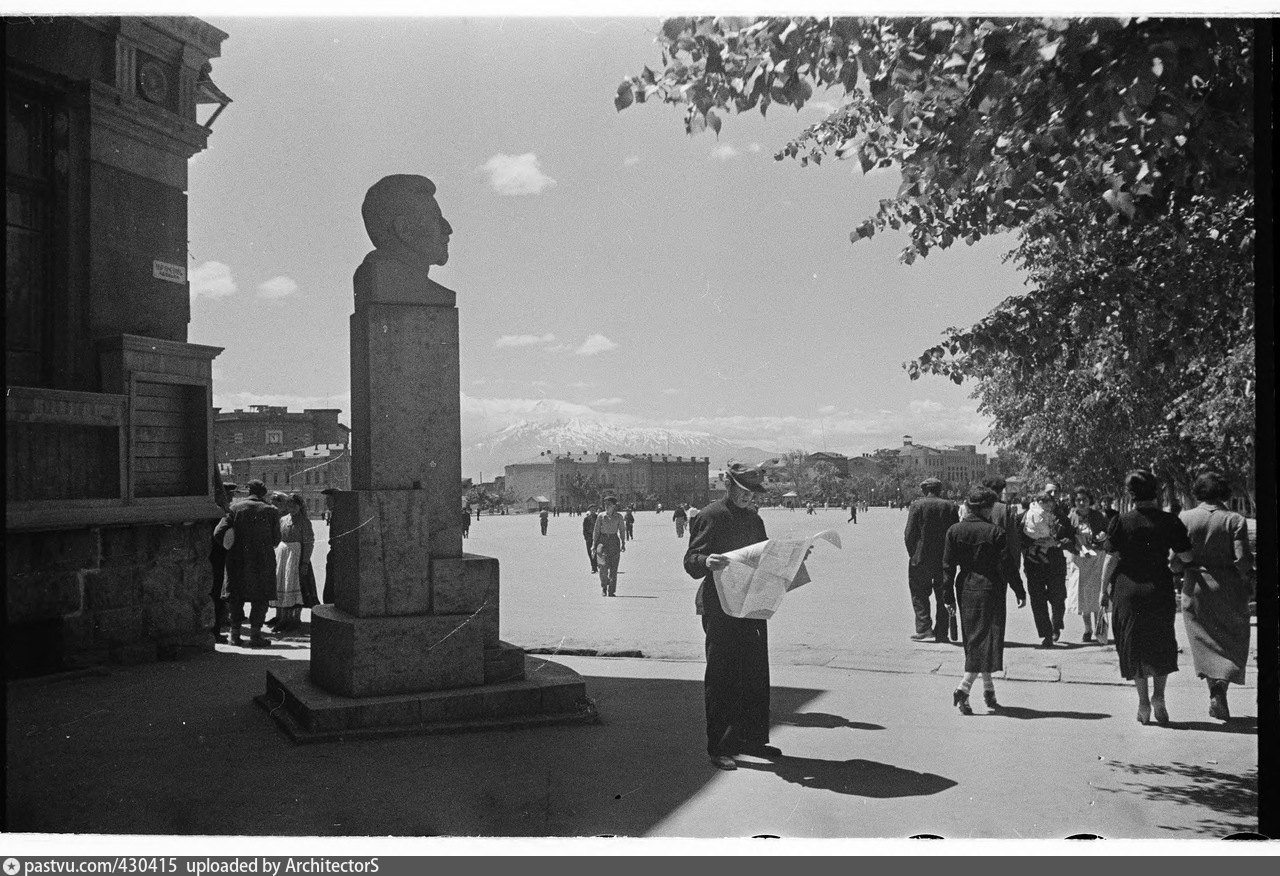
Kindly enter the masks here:
[[337, 407], [250, 405], [246, 410], [214, 409], [214, 456], [219, 462], [287, 452], [307, 444], [349, 444], [351, 429], [338, 423]]

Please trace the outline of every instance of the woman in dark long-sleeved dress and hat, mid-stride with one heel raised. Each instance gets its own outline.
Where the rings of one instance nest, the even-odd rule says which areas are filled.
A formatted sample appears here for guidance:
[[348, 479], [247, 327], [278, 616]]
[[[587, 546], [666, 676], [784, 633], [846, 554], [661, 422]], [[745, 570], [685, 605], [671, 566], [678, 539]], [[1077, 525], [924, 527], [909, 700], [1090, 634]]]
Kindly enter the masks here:
[[959, 601], [964, 630], [964, 680], [951, 697], [961, 715], [973, 715], [969, 690], [979, 674], [987, 708], [1000, 708], [991, 674], [1005, 669], [1005, 588], [1014, 588], [1019, 608], [1027, 604], [1021, 581], [1005, 571], [1005, 530], [991, 523], [995, 502], [995, 491], [974, 487], [965, 498], [968, 512], [947, 529], [942, 548], [943, 598], [952, 613]]

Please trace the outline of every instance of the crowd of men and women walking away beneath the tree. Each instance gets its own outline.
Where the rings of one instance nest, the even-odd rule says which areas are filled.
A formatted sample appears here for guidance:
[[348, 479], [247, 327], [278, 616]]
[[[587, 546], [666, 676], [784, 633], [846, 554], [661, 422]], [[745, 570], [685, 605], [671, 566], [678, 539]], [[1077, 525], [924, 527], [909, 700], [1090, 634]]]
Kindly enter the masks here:
[[987, 707], [1000, 707], [992, 672], [1004, 669], [1007, 588], [1019, 608], [1030, 602], [1042, 648], [1060, 640], [1066, 608], [1082, 616], [1085, 643], [1105, 644], [1110, 634], [1142, 724], [1170, 720], [1165, 683], [1178, 671], [1180, 603], [1210, 716], [1230, 718], [1228, 686], [1243, 684], [1249, 652], [1253, 557], [1244, 517], [1226, 507], [1222, 475], [1201, 473], [1193, 487], [1199, 503], [1181, 515], [1160, 507], [1160, 482], [1147, 470], [1125, 478], [1133, 507], [1123, 514], [1110, 502], [1094, 507], [1085, 488], [1065, 511], [1052, 483], [1027, 507], [998, 478], [974, 487], [959, 507], [940, 489], [937, 479], [924, 480], [908, 514], [911, 638], [954, 640], [959, 619], [965, 676], [952, 703], [961, 713], [973, 713], [969, 693], [978, 676]]

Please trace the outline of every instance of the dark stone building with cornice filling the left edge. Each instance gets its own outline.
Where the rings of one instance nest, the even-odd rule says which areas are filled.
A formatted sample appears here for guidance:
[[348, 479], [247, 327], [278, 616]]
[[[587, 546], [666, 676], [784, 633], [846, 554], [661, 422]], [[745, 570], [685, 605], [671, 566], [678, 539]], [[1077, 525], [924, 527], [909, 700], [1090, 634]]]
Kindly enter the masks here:
[[186, 192], [229, 102], [210, 79], [227, 35], [177, 17], [4, 31], [5, 672], [210, 649], [221, 351], [187, 343]]

